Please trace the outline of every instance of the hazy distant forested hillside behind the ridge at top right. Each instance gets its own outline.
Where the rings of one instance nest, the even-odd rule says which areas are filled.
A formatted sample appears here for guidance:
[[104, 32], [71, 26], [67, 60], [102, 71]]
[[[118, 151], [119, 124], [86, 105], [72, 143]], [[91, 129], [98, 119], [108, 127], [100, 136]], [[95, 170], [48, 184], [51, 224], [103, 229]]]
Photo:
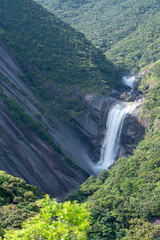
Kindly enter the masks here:
[[160, 57], [158, 0], [36, 0], [72, 24], [116, 64], [137, 71]]

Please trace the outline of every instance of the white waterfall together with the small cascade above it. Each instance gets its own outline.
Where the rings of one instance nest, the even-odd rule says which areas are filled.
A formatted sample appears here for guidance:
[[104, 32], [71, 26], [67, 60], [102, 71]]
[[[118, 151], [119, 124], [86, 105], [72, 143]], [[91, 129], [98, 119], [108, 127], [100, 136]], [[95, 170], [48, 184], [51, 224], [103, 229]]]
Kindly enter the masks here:
[[[131, 94], [136, 82], [136, 77], [123, 77], [123, 83], [132, 89], [128, 94]], [[103, 169], [108, 169], [116, 160], [121, 147], [121, 132], [124, 119], [128, 114], [132, 114], [138, 105], [138, 102], [118, 101], [110, 108], [106, 121], [106, 130], [101, 148], [100, 160], [94, 165], [94, 171], [96, 173], [99, 173]]]

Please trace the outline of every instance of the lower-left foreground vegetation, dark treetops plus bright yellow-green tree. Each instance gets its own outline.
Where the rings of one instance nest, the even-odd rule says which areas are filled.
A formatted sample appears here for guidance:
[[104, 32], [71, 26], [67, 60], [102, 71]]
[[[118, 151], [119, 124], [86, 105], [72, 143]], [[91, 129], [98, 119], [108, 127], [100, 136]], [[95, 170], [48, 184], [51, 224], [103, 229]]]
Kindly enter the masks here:
[[86, 239], [89, 211], [84, 204], [40, 196], [36, 187], [0, 171], [0, 239]]

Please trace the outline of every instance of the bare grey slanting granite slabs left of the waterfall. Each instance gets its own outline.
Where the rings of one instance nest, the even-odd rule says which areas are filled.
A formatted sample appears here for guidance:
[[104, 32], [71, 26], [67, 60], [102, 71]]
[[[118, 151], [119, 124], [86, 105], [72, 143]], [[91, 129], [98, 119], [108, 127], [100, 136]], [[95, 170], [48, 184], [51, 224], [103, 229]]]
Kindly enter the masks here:
[[[0, 41], [0, 83], [3, 92], [16, 99], [33, 119], [38, 117], [63, 153], [89, 172], [84, 163], [88, 154], [83, 144], [68, 126], [56, 121], [53, 114], [47, 114], [49, 110], [46, 106], [43, 106], [45, 114], [42, 113], [38, 106], [43, 104], [19, 77], [21, 73], [14, 54]], [[71, 168], [64, 157], [34, 131], [20, 126], [2, 99], [0, 107], [0, 169], [59, 199], [77, 189], [88, 175]], [[81, 163], [78, 164], [80, 153]]]

